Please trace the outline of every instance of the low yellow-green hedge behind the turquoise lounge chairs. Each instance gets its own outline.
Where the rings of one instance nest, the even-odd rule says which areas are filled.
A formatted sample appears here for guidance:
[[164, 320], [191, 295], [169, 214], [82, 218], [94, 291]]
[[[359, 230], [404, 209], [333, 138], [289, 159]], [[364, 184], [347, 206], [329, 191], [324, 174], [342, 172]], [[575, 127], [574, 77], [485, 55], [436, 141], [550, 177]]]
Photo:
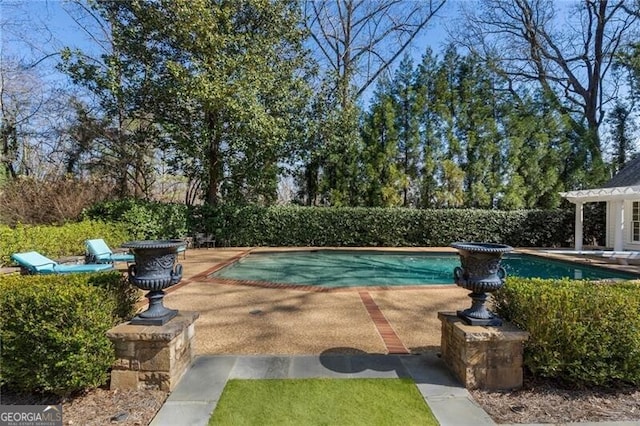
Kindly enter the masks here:
[[11, 263], [11, 254], [38, 251], [52, 259], [84, 254], [84, 241], [103, 238], [112, 248], [130, 240], [127, 228], [119, 223], [85, 220], [64, 226], [0, 225], [0, 264]]

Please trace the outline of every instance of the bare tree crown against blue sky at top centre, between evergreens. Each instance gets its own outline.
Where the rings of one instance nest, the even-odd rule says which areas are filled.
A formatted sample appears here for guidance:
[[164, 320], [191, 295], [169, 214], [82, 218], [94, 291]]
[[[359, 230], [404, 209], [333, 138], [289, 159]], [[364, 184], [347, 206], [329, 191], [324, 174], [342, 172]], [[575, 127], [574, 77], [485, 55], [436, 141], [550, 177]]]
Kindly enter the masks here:
[[446, 0], [307, 0], [306, 25], [343, 107], [406, 50]]

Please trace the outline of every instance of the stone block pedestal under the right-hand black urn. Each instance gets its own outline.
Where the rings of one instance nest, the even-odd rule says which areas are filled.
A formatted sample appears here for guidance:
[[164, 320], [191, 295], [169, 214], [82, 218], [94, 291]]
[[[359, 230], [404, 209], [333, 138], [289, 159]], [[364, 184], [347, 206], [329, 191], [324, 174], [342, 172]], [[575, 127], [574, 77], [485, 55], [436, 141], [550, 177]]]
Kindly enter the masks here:
[[438, 312], [442, 359], [467, 389], [522, 387], [523, 343], [529, 333], [505, 322], [500, 327], [465, 324], [455, 312]]

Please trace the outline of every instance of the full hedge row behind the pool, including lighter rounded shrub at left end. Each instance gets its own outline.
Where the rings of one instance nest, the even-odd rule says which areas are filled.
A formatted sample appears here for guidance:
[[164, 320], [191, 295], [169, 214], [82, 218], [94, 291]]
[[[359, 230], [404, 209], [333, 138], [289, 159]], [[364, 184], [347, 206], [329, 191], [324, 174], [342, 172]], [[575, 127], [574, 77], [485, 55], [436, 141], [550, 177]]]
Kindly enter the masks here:
[[447, 246], [466, 240], [552, 247], [567, 245], [573, 236], [574, 214], [567, 210], [187, 207], [124, 200], [96, 205], [86, 217], [122, 222], [140, 239], [205, 232], [229, 246]]

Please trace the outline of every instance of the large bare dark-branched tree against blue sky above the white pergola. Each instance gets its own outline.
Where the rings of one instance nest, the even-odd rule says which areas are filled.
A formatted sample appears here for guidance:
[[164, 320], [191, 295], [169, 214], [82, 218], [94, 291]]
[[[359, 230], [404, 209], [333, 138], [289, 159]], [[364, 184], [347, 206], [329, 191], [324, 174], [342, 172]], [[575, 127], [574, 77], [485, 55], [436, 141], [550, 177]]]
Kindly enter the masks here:
[[[593, 167], [604, 177], [599, 128], [615, 98], [607, 77], [638, 17], [628, 0], [486, 0], [465, 9], [458, 37], [472, 52], [498, 58], [514, 82], [537, 82], [572, 117]], [[561, 9], [563, 8], [563, 9]], [[586, 123], [586, 126], [582, 124]]]

